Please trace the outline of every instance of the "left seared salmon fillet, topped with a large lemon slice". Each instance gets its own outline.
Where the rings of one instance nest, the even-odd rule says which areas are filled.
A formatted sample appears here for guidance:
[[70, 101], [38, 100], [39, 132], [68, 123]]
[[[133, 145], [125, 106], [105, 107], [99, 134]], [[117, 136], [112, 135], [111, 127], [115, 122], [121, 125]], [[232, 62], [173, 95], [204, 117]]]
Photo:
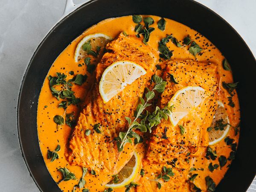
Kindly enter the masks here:
[[[136, 37], [119, 35], [106, 45], [106, 52], [96, 67], [96, 81], [88, 94], [89, 102], [79, 115], [72, 133], [67, 151], [67, 160], [71, 165], [79, 165], [100, 172], [101, 175], [116, 174], [131, 158], [134, 146], [125, 145], [125, 150], [118, 152], [113, 141], [120, 131], [128, 128], [125, 116], [133, 119], [134, 111], [143, 96], [144, 88], [153, 74], [153, 66], [157, 61], [155, 51], [143, 44]], [[99, 93], [99, 81], [104, 70], [116, 61], [133, 61], [146, 70], [146, 74], [127, 85], [122, 92], [104, 103]], [[93, 128], [99, 124], [98, 130]], [[91, 130], [86, 136], [85, 131]], [[120, 163], [120, 159], [122, 163]], [[106, 180], [107, 182], [107, 180]]]

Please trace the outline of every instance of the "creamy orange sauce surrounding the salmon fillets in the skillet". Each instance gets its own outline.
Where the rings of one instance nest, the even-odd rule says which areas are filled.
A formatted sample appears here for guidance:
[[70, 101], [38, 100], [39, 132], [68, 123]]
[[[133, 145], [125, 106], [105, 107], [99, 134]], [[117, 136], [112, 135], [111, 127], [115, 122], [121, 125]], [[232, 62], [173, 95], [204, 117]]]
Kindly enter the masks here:
[[[146, 16], [144, 15], [143, 17]], [[238, 143], [239, 134], [235, 135], [235, 129], [233, 128], [239, 124], [240, 120], [238, 97], [237, 94], [233, 96], [233, 102], [235, 104], [235, 107], [230, 107], [228, 105], [229, 101], [227, 99], [230, 95], [221, 85], [222, 81], [233, 82], [232, 72], [223, 69], [222, 61], [224, 59], [224, 56], [207, 38], [196, 32], [195, 30], [190, 29], [188, 26], [185, 26], [174, 20], [166, 19], [166, 29], [164, 31], [161, 31], [157, 28], [157, 21], [160, 20], [160, 17], [150, 17], [154, 19], [154, 24], [151, 25], [151, 27], [154, 27], [155, 30], [150, 35], [148, 45], [157, 50], [158, 42], [162, 38], [166, 37], [167, 34], [173, 35], [175, 38], [177, 38], [180, 44], [183, 45], [183, 38], [186, 37], [186, 35], [190, 35], [191, 39], [195, 40], [196, 43], [204, 49], [199, 55], [196, 55], [197, 61], [211, 62], [218, 66], [218, 91], [222, 92], [222, 94], [219, 94], [220, 96], [218, 100], [224, 103], [230, 119], [230, 124], [232, 125], [227, 136], [234, 139], [234, 143]], [[52, 64], [52, 67], [50, 68], [47, 77], [56, 76], [56, 72], [59, 72], [67, 75], [68, 80], [72, 79], [77, 74], [86, 74], [88, 77], [84, 84], [82, 84], [81, 86], [73, 84], [72, 87], [72, 90], [75, 92], [75, 96], [77, 98], [80, 98], [81, 102], [84, 102], [87, 99], [86, 95], [88, 90], [90, 89], [90, 86], [92, 84], [91, 82], [93, 81], [94, 77], [87, 72], [87, 67], [84, 64], [83, 60], [79, 61], [79, 63], [75, 62], [74, 53], [77, 44], [86, 35], [99, 32], [113, 38], [119, 35], [122, 31], [125, 31], [127, 34], [135, 35], [137, 34], [136, 32], [134, 32], [135, 25], [136, 23], [133, 22], [132, 16], [125, 16], [103, 20], [98, 24], [90, 27], [78, 38], [76, 38], [66, 49], [64, 49], [64, 51]], [[195, 60], [195, 57], [191, 53], [189, 53], [188, 46], [177, 47], [172, 42], [169, 42], [167, 45], [170, 50], [173, 50], [173, 56], [171, 58], [172, 60]], [[73, 71], [74, 74], [70, 75], [70, 71]], [[160, 74], [160, 70], [157, 70], [157, 73]], [[44, 81], [38, 101], [37, 123], [39, 144], [49, 173], [52, 175], [52, 178], [56, 182], [58, 182], [62, 178], [61, 172], [58, 171], [59, 168], [66, 167], [70, 170], [70, 172], [76, 175], [76, 180], [62, 181], [58, 184], [62, 191], [71, 192], [73, 190], [73, 187], [78, 184], [81, 178], [82, 168], [80, 166], [71, 166], [66, 160], [65, 150], [68, 144], [68, 138], [71, 134], [71, 128], [67, 125], [57, 126], [56, 123], [53, 121], [53, 117], [55, 115], [64, 115], [64, 109], [58, 108], [58, 104], [61, 102], [61, 99], [60, 101], [58, 101], [54, 96], [52, 96], [52, 93], [49, 89], [49, 80], [47, 79], [47, 77]], [[79, 115], [80, 111], [79, 105], [69, 105], [67, 107], [66, 113], [71, 113], [72, 111], [75, 112], [76, 118]], [[61, 150], [58, 151], [59, 158], [51, 162], [49, 159], [47, 159], [47, 151], [53, 151], [57, 145], [61, 146]], [[215, 144], [212, 148], [217, 151], [218, 155], [224, 155], [225, 157], [229, 157], [230, 155], [231, 148], [230, 146], [226, 145], [224, 140]], [[140, 151], [140, 148], [137, 148], [137, 152], [139, 152], [140, 156], [143, 157], [144, 151]], [[224, 177], [224, 174], [228, 169], [227, 166], [231, 163], [231, 161], [228, 160], [226, 166], [224, 166], [222, 169], [218, 168], [215, 169], [214, 172], [210, 172], [208, 169], [209, 162], [212, 162], [212, 164], [218, 164], [218, 159], [214, 161], [207, 160], [204, 157], [205, 150], [199, 150], [198, 152], [201, 153], [201, 157], [192, 160], [192, 164], [194, 167], [204, 169], [198, 171], [198, 177], [206, 177], [207, 175], [209, 175], [217, 185]], [[97, 175], [91, 175], [90, 173], [87, 173], [84, 179], [86, 180], [84, 188], [89, 189], [90, 192], [104, 191], [104, 186], [99, 185], [101, 180], [100, 173], [97, 173]], [[200, 187], [203, 191], [206, 190], [205, 181], [196, 183], [197, 186]], [[185, 183], [179, 183], [179, 185], [185, 185]], [[82, 189], [76, 188], [76, 192], [78, 191], [82, 191]], [[114, 191], [124, 192], [125, 188], [115, 189]], [[134, 191], [134, 189], [131, 189], [131, 191]]]

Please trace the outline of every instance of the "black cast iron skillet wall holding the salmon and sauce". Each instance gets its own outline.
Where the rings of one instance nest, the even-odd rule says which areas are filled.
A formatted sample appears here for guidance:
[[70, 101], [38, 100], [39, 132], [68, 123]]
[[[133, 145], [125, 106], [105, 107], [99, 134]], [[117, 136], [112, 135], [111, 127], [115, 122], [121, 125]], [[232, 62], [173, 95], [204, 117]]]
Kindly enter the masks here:
[[20, 89], [17, 125], [26, 166], [38, 188], [60, 192], [38, 144], [38, 96], [52, 63], [85, 29], [109, 17], [158, 15], [183, 23], [207, 37], [230, 62], [241, 105], [241, 135], [236, 159], [218, 192], [245, 192], [256, 174], [256, 60], [239, 34], [220, 16], [192, 0], [92, 0], [64, 17], [36, 49]]

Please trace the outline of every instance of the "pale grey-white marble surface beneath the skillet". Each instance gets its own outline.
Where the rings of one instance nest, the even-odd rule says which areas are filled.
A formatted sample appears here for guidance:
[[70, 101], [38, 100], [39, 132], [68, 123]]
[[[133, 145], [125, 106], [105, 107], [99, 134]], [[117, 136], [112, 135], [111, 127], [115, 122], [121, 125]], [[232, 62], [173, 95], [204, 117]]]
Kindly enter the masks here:
[[[197, 1], [224, 17], [256, 55], [256, 0]], [[0, 0], [0, 5], [0, 191], [37, 192], [18, 144], [17, 95], [32, 53], [61, 17], [65, 0]]]

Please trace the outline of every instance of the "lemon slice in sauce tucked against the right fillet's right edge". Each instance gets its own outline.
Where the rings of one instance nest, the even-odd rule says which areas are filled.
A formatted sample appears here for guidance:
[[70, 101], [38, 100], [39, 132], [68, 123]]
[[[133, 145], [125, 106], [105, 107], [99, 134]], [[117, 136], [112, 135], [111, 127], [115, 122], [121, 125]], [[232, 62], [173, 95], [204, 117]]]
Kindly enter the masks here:
[[[215, 130], [214, 128], [219, 126], [220, 123], [222, 124], [223, 130]], [[209, 145], [214, 145], [220, 142], [230, 130], [230, 121], [228, 119], [224, 104], [221, 101], [218, 101], [218, 108], [215, 112], [215, 115], [213, 116], [212, 124], [210, 127], [212, 130], [209, 131]]]

